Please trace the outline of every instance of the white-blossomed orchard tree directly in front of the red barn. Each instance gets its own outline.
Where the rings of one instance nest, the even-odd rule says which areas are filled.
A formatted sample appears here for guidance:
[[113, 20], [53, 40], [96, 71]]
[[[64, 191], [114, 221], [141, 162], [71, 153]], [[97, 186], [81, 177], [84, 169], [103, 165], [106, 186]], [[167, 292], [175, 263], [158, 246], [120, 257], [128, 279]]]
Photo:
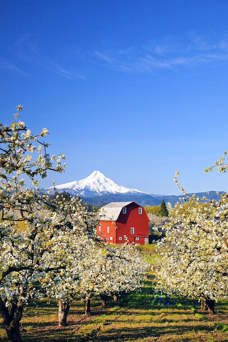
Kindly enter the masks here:
[[100, 297], [102, 306], [106, 297], [122, 291], [138, 290], [145, 278], [148, 264], [131, 245], [122, 247], [105, 246], [105, 249], [87, 251], [80, 265], [81, 278], [78, 282], [78, 297], [85, 303], [85, 314], [90, 315], [92, 297]]

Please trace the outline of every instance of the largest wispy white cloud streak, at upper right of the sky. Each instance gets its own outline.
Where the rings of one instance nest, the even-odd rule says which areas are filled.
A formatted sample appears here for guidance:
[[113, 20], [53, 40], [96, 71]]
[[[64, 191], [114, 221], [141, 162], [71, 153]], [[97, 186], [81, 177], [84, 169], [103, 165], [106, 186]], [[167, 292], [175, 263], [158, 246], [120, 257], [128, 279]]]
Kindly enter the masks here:
[[94, 55], [100, 63], [115, 70], [131, 74], [152, 73], [154, 69], [197, 67], [203, 64], [228, 60], [228, 41], [210, 42], [201, 36], [191, 34], [186, 47], [179, 42], [166, 39], [150, 43], [141, 49], [127, 49], [121, 55], [115, 51], [98, 51]]

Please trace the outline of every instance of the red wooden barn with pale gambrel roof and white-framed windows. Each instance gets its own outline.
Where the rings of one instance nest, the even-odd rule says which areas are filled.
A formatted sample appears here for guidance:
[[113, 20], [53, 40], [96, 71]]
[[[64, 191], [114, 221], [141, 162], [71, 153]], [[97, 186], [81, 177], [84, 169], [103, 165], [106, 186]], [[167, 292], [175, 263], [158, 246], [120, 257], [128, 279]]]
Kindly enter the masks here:
[[112, 202], [102, 207], [97, 235], [109, 244], [149, 243], [149, 218], [136, 202]]

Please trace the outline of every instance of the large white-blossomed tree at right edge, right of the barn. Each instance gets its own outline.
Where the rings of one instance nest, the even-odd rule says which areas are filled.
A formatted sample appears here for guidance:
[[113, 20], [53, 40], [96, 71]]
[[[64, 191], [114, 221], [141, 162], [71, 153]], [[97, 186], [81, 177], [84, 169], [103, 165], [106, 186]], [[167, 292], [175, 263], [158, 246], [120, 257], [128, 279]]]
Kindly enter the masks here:
[[[225, 172], [221, 159], [216, 165]], [[228, 194], [222, 194], [218, 202], [189, 197], [177, 181], [178, 174], [174, 181], [184, 197], [174, 208], [169, 205], [172, 219], [165, 226], [166, 237], [158, 244], [162, 254], [159, 286], [168, 293], [198, 298], [202, 308], [207, 305], [214, 314], [215, 301], [228, 298]], [[183, 212], [187, 200], [190, 205]]]

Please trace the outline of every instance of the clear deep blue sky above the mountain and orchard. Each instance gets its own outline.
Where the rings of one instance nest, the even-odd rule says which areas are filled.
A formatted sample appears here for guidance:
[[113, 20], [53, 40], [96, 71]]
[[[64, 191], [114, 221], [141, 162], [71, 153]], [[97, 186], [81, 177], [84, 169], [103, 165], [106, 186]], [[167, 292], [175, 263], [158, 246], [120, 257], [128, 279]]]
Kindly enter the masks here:
[[145, 192], [228, 191], [204, 169], [223, 154], [228, 125], [227, 1], [4, 1], [1, 114], [15, 106], [48, 128], [65, 174], [99, 170]]

